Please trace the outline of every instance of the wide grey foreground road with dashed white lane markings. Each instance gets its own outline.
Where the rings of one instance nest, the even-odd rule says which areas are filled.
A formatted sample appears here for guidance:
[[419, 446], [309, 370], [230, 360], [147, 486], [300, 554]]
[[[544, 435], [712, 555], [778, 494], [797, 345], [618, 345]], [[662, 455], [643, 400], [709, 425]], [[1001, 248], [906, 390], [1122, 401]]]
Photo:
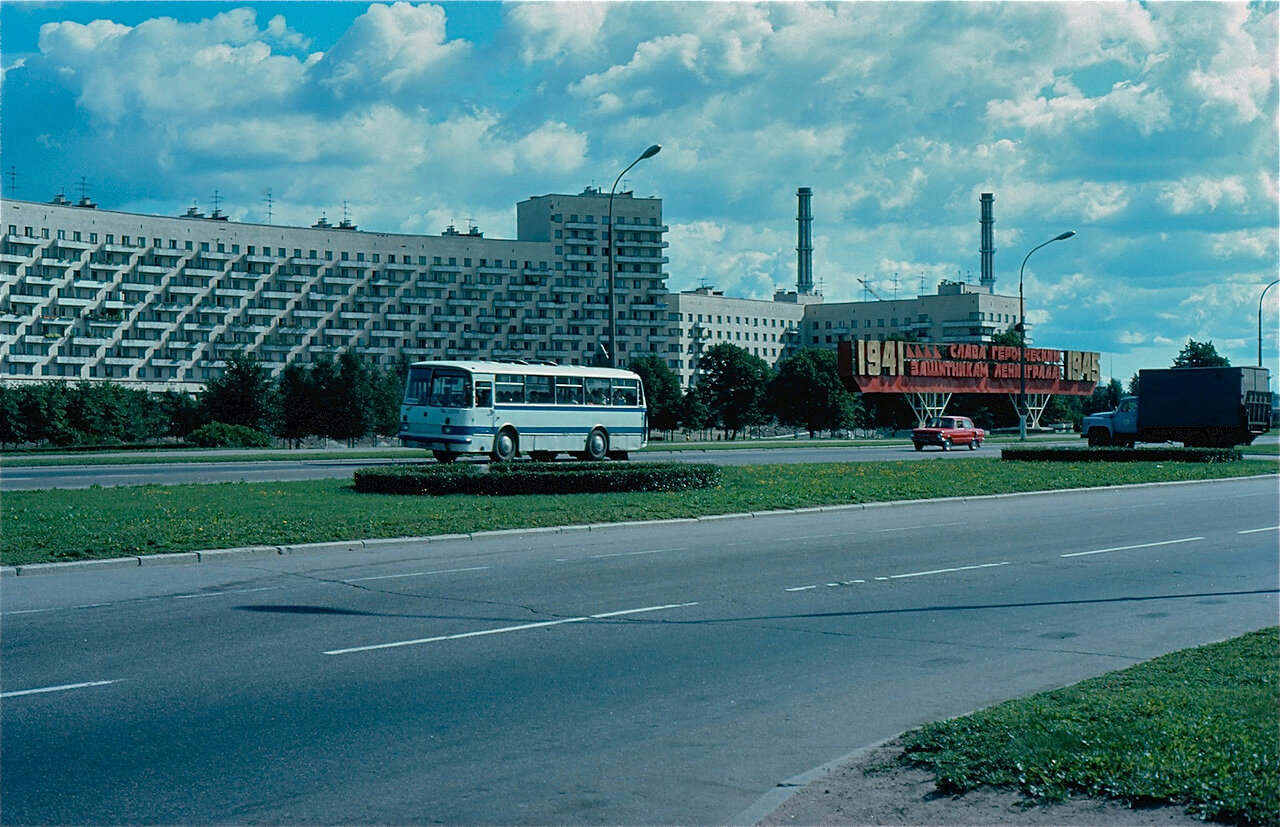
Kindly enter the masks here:
[[1276, 622], [1274, 479], [4, 580], [6, 824], [724, 823]]

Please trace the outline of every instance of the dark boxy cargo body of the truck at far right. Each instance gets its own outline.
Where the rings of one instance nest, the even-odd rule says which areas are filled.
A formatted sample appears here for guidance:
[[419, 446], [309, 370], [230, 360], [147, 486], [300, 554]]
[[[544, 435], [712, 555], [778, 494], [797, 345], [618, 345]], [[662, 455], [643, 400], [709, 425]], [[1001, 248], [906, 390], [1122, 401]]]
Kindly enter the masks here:
[[1254, 433], [1270, 425], [1252, 402], [1270, 401], [1265, 367], [1171, 367], [1138, 371], [1138, 429], [1243, 428]]

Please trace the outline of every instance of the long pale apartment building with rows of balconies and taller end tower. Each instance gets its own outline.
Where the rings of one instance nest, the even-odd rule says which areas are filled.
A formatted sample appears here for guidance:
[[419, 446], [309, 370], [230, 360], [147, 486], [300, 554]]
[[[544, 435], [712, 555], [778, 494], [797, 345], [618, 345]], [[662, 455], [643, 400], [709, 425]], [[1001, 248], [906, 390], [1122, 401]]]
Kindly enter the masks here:
[[236, 349], [273, 373], [352, 347], [422, 358], [622, 362], [667, 352], [662, 201], [586, 188], [517, 205], [517, 238], [140, 215], [0, 201], [0, 380], [195, 390]]

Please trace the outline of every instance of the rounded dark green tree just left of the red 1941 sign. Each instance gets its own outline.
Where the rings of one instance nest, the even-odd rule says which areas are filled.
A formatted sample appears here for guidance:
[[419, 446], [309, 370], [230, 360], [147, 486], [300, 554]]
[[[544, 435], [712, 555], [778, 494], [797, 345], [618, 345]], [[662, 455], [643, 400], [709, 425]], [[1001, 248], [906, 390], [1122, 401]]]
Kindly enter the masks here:
[[836, 370], [836, 352], [805, 348], [788, 356], [769, 381], [768, 407], [785, 425], [799, 425], [809, 438], [819, 430], [854, 428], [867, 416]]

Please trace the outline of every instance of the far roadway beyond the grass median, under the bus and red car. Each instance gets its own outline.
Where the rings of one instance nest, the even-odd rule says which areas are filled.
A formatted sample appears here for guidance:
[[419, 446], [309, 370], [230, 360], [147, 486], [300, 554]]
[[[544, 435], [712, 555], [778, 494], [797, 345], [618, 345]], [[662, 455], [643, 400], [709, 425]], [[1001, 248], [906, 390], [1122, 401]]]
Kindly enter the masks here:
[[[1076, 440], [1078, 442], [1078, 440]], [[1070, 443], [1075, 444], [1075, 443]], [[911, 446], [813, 448], [737, 448], [632, 454], [636, 460], [658, 462], [714, 462], [717, 465], [765, 465], [786, 462], [873, 462], [881, 460], [957, 460], [998, 456], [1000, 447], [987, 444], [978, 451], [923, 451]], [[91, 485], [177, 485], [182, 483], [275, 483], [282, 480], [321, 480], [349, 478], [356, 469], [394, 462], [422, 462], [425, 452], [411, 452], [404, 460], [284, 460], [253, 462], [164, 462], [154, 465], [84, 465], [15, 467], [0, 470], [0, 490], [46, 488], [88, 488]], [[566, 460], [567, 461], [567, 460]]]

